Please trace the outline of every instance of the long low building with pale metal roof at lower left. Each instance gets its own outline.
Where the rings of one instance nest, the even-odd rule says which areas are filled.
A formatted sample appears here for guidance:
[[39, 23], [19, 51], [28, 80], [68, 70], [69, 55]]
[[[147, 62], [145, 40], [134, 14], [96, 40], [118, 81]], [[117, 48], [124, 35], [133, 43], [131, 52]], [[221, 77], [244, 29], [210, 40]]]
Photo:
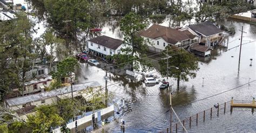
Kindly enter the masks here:
[[[86, 90], [87, 87], [98, 86], [100, 86], [98, 82], [87, 82], [84, 84], [73, 85], [73, 92]], [[63, 95], [68, 93], [71, 93], [71, 86], [65, 86], [48, 92], [41, 92], [37, 94], [25, 95], [23, 97], [6, 99], [4, 100], [4, 108], [18, 110], [29, 106], [38, 107], [41, 105], [55, 104], [59, 97], [63, 98]]]

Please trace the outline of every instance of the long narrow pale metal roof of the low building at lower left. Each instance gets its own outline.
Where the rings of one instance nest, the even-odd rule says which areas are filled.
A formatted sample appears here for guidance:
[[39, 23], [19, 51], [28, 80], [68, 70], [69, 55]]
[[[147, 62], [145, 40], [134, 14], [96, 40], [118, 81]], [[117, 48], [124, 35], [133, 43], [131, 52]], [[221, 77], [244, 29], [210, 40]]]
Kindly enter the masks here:
[[[73, 85], [73, 92], [84, 90], [87, 87], [96, 87], [96, 86], [100, 86], [100, 84], [98, 82], [87, 82], [84, 84]], [[65, 87], [58, 88], [56, 90], [52, 90], [52, 91], [48, 91], [48, 92], [41, 92], [41, 93], [37, 93], [37, 94], [26, 95], [23, 97], [6, 99], [5, 102], [9, 106], [23, 105], [28, 102], [47, 99], [50, 97], [57, 97], [57, 95], [66, 94], [66, 93], [70, 93], [70, 92], [71, 92], [71, 86], [65, 86]]]

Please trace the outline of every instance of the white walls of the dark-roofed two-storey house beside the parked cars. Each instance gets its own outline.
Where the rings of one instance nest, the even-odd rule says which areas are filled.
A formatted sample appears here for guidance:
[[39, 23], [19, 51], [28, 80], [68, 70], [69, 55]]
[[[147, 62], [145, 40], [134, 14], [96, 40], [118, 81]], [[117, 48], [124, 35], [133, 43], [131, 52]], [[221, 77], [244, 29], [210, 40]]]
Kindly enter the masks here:
[[[91, 46], [92, 44], [92, 46]], [[98, 45], [97, 43], [93, 43], [93, 42], [90, 42], [88, 41], [88, 48], [93, 50], [93, 51], [97, 51], [101, 54], [104, 54], [104, 55], [114, 55], [114, 54], [118, 54], [118, 50], [120, 50], [121, 48], [125, 48], [127, 47], [126, 45], [122, 44], [120, 45], [117, 49], [110, 49], [110, 48], [106, 48], [106, 50], [104, 50], [104, 46], [101, 46], [101, 45]], [[110, 50], [112, 50], [112, 54], [110, 53]]]

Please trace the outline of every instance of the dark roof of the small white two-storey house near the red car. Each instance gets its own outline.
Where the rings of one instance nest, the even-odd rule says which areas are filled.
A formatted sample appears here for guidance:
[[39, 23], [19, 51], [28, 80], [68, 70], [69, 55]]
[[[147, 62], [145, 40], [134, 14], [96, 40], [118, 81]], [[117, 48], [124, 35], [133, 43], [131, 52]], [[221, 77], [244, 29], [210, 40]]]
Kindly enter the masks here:
[[113, 39], [106, 35], [97, 36], [97, 38], [93, 38], [88, 41], [97, 43], [98, 45], [101, 45], [113, 50], [116, 50], [120, 45], [123, 44], [122, 40]]

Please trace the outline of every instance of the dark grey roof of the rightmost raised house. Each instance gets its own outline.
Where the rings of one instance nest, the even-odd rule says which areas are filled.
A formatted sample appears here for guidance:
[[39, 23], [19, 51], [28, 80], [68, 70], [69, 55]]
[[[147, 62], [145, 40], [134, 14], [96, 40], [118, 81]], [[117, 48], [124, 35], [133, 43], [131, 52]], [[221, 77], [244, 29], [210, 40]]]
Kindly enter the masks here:
[[210, 36], [210, 35], [224, 32], [221, 29], [219, 29], [217, 26], [213, 25], [210, 21], [205, 21], [203, 23], [191, 25], [187, 27], [192, 29], [192, 31], [196, 32], [197, 34], [204, 35], [204, 36]]

